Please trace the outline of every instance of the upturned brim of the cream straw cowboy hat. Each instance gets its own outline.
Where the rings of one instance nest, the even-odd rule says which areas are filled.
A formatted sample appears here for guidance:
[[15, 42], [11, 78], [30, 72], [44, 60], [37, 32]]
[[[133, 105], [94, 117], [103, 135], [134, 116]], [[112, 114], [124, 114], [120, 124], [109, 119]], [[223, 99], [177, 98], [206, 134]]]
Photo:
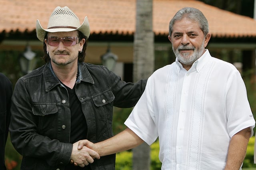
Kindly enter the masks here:
[[84, 22], [82, 25], [76, 29], [72, 28], [51, 28], [51, 29], [44, 29], [42, 28], [39, 20], [36, 20], [36, 36], [41, 41], [44, 42], [44, 37], [46, 35], [46, 32], [70, 32], [78, 30], [84, 34], [87, 38], [90, 36], [90, 26], [88, 22], [87, 16], [84, 18]]

